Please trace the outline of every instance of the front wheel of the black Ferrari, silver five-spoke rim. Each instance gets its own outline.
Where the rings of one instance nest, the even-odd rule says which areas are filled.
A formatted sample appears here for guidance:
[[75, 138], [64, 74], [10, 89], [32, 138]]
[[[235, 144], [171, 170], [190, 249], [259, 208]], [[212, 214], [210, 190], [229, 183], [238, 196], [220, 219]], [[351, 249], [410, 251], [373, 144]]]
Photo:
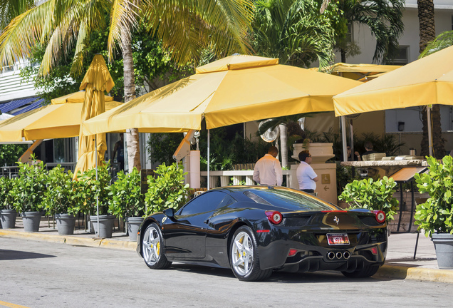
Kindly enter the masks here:
[[155, 223], [147, 226], [142, 238], [142, 257], [148, 267], [153, 270], [163, 270], [172, 262], [165, 257], [165, 244], [159, 226]]

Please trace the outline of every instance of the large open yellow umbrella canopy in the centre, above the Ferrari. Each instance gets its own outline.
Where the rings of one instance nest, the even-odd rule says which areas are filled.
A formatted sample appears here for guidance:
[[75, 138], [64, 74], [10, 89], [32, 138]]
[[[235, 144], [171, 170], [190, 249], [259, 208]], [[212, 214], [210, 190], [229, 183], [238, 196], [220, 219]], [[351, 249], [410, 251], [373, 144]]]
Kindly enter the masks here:
[[276, 58], [234, 55], [197, 68], [195, 75], [152, 91], [83, 123], [83, 133], [138, 128], [142, 133], [199, 130], [288, 116], [333, 111], [332, 96], [360, 82]]

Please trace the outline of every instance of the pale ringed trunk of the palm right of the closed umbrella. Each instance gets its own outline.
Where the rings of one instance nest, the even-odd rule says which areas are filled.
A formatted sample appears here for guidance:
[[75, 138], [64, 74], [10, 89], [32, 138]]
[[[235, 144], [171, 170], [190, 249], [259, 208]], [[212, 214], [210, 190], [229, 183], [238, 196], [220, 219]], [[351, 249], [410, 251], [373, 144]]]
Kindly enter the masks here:
[[[123, 35], [127, 35], [127, 31], [123, 31]], [[122, 38], [121, 49], [123, 50], [124, 63], [124, 101], [132, 101], [135, 98], [135, 75], [134, 75], [134, 60], [132, 58], [132, 46], [130, 37]], [[138, 129], [130, 128], [126, 130], [127, 143], [127, 163], [129, 172], [135, 167], [141, 170], [140, 165], [140, 143], [138, 138]]]

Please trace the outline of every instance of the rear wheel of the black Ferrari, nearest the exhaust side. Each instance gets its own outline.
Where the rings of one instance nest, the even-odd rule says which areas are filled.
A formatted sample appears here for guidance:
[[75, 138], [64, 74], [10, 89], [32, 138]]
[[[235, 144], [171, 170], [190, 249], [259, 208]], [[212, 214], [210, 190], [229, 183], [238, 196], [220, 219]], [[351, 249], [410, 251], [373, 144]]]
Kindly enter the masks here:
[[234, 276], [241, 281], [260, 281], [272, 274], [272, 269], [261, 270], [256, 238], [249, 227], [239, 227], [230, 243], [230, 265]]

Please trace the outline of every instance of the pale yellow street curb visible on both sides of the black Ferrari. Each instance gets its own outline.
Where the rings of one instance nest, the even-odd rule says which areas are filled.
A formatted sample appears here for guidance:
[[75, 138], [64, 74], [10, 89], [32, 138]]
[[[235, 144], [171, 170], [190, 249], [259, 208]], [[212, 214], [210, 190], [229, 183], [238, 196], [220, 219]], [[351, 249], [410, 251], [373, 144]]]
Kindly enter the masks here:
[[[0, 237], [12, 237], [24, 240], [38, 240], [42, 242], [55, 242], [87, 247], [103, 247], [115, 250], [135, 251], [135, 248], [137, 247], [136, 242], [78, 237], [74, 235], [46, 235], [38, 232], [19, 232], [4, 229], [0, 229]], [[453, 270], [382, 265], [373, 277], [383, 279], [411, 279], [427, 282], [453, 283]]]

